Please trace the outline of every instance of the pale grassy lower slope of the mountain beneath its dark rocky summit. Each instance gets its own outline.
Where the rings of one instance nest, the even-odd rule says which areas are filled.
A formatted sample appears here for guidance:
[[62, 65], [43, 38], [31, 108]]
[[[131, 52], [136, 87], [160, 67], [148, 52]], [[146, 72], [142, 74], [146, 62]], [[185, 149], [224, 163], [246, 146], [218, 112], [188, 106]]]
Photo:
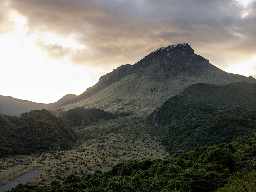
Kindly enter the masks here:
[[51, 112], [59, 116], [76, 107], [93, 107], [111, 113], [131, 111], [137, 115], [146, 116], [161, 106], [168, 98], [177, 95], [191, 84], [201, 82], [223, 84], [238, 81], [231, 77], [230, 79], [223, 78], [222, 74], [209, 75], [208, 72], [203, 73], [205, 74], [199, 77], [179, 75], [168, 82], [151, 81], [150, 77], [134, 73], [89, 98], [58, 107], [51, 110]]

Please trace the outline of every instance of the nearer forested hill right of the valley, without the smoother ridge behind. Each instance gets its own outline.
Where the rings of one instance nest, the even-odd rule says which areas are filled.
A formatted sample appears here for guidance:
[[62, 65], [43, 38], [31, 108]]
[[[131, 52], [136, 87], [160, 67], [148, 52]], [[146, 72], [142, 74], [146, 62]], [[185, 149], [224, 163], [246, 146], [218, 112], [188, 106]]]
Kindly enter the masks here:
[[256, 111], [227, 102], [222, 110], [193, 101], [187, 96], [174, 96], [156, 109], [149, 122], [167, 131], [163, 139], [170, 153], [183, 153], [202, 145], [218, 145], [254, 133]]

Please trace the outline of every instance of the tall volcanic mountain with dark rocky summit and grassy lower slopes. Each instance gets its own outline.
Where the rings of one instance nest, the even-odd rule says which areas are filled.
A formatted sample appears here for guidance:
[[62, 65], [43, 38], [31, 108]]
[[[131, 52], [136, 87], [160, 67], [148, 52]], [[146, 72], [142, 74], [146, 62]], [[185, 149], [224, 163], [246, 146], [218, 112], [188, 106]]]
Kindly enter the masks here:
[[69, 104], [51, 112], [61, 115], [76, 107], [95, 107], [111, 112], [133, 111], [149, 115], [166, 99], [191, 84], [235, 82], [256, 83], [256, 79], [222, 71], [183, 43], [158, 48], [134, 65], [114, 69], [84, 93], [71, 99]]

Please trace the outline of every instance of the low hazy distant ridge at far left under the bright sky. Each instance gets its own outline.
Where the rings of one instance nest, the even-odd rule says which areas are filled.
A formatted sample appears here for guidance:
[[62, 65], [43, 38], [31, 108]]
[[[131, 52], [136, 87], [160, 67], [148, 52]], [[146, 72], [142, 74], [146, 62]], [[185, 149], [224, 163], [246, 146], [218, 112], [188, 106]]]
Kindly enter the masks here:
[[55, 103], [35, 103], [32, 101], [16, 99], [11, 96], [0, 95], [0, 113], [5, 115], [20, 115], [35, 109], [53, 109], [70, 101], [77, 95], [65, 95]]

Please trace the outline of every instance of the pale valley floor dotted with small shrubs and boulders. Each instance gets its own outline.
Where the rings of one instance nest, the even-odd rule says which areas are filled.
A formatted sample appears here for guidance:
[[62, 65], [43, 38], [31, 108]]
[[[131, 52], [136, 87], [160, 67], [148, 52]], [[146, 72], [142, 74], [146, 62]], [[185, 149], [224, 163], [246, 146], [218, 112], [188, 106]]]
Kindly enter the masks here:
[[5, 168], [0, 173], [0, 190], [32, 170], [39, 171], [34, 173], [34, 178], [23, 180], [24, 184], [49, 185], [53, 180], [63, 182], [72, 173], [105, 172], [120, 162], [169, 155], [160, 142], [165, 131], [133, 115], [77, 127], [76, 131], [79, 140], [72, 150], [1, 158], [0, 167]]

